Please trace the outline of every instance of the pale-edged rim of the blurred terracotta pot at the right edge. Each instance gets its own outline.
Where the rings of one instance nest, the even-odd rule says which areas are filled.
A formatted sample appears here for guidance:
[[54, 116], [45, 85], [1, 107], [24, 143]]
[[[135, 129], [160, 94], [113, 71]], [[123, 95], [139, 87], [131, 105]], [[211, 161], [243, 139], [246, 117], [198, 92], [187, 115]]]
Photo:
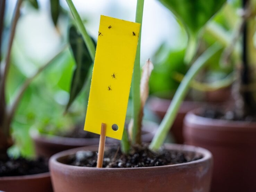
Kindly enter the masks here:
[[[200, 128], [204, 127], [204, 129], [207, 129], [206, 126], [211, 126], [216, 129], [225, 129], [225, 130], [232, 130], [235, 129], [243, 129], [245, 130], [251, 130], [256, 128], [256, 122], [249, 122], [249, 121], [233, 121], [233, 120], [224, 120], [224, 119], [212, 119], [209, 117], [202, 117], [199, 116], [199, 112], [202, 111], [203, 108], [197, 108], [194, 110], [189, 111], [184, 119], [184, 123], [193, 123], [195, 125], [199, 125]], [[256, 131], [256, 129], [255, 129]]]

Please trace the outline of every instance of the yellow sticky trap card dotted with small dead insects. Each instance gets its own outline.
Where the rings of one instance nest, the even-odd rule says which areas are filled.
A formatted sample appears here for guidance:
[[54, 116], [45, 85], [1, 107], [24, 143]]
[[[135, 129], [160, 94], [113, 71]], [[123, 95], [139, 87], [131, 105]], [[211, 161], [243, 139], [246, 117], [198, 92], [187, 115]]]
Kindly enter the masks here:
[[[85, 131], [122, 139], [140, 24], [101, 16]], [[114, 131], [112, 126], [118, 126]]]

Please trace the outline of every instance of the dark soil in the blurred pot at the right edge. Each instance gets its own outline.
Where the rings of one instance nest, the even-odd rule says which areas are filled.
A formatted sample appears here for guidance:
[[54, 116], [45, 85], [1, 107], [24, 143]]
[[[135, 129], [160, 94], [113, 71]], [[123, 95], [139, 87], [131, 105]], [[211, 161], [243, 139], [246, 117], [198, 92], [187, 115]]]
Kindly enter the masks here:
[[223, 119], [231, 121], [248, 121], [256, 122], [256, 116], [247, 115], [245, 117], [240, 117], [234, 111], [221, 111], [215, 108], [206, 108], [199, 113], [202, 117], [207, 117], [211, 119]]

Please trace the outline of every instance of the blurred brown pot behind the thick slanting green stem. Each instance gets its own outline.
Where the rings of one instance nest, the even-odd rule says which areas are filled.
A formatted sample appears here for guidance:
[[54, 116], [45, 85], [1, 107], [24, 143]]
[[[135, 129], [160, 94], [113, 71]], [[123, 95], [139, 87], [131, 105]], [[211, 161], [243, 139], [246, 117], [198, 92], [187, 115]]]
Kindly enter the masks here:
[[[170, 104], [171, 104], [170, 99], [162, 99], [159, 97], [151, 97], [150, 100], [148, 101], [148, 106], [150, 110], [153, 111], [155, 114], [157, 114], [161, 119], [163, 119]], [[181, 104], [179, 112], [170, 130], [176, 143], [181, 143], [181, 144], [184, 143], [182, 127], [183, 127], [183, 119], [186, 113], [195, 108], [202, 107], [203, 105], [204, 105], [203, 102], [192, 102], [192, 101], [184, 101]]]

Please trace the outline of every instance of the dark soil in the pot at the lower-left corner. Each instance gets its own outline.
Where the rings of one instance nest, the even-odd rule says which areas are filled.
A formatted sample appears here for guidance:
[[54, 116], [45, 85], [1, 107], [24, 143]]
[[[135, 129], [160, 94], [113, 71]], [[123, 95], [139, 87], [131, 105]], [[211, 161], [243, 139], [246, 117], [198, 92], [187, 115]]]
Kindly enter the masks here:
[[33, 175], [49, 172], [48, 161], [43, 158], [28, 160], [24, 158], [0, 160], [0, 177]]

